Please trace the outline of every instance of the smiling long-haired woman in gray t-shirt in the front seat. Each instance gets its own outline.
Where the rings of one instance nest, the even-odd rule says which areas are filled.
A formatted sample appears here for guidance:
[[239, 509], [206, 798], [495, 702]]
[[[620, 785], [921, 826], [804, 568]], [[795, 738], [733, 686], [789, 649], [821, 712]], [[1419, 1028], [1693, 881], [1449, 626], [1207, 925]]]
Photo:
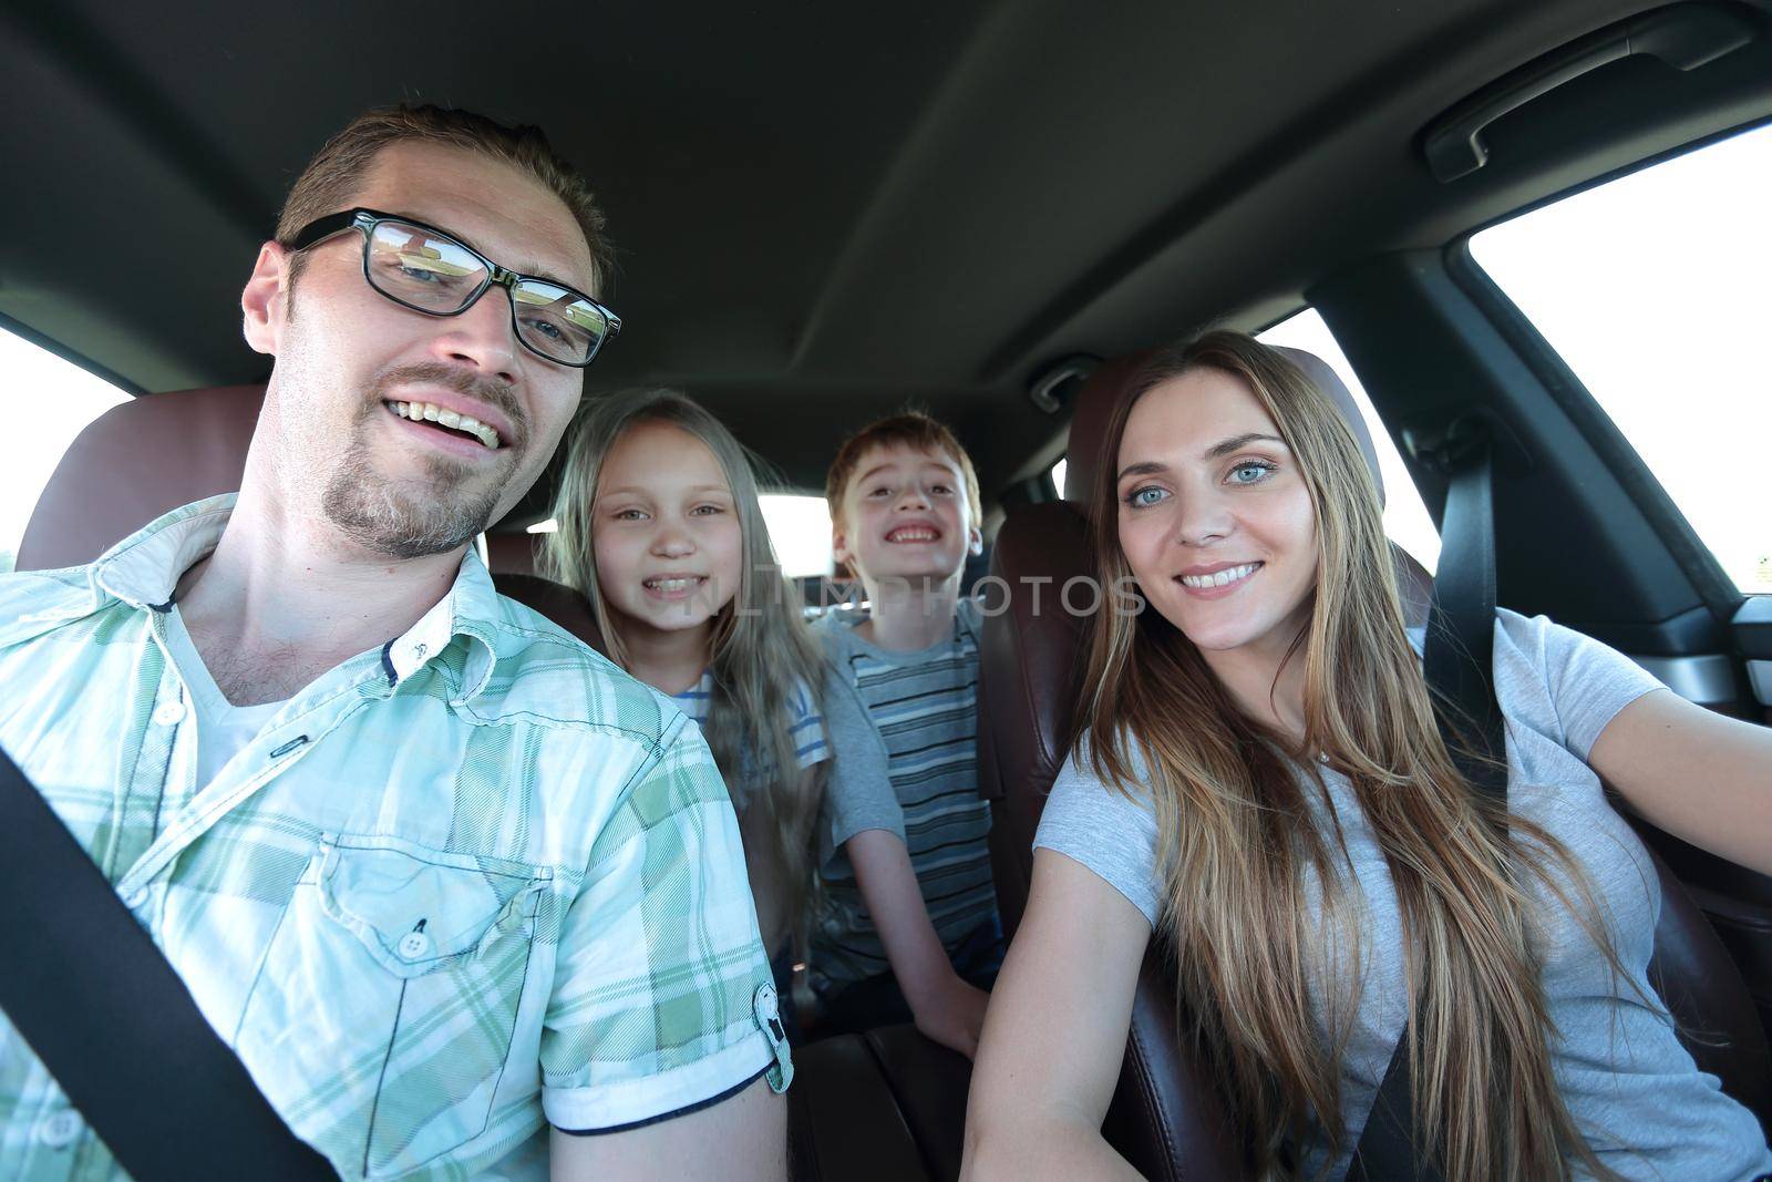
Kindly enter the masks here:
[[1411, 1012], [1448, 1178], [1772, 1168], [1655, 999], [1655, 870], [1598, 780], [1772, 870], [1772, 734], [1497, 611], [1490, 815], [1435, 730], [1366, 463], [1286, 358], [1233, 333], [1159, 358], [1102, 455], [1097, 574], [1148, 603], [1095, 618], [985, 1017], [973, 1175], [1131, 1175], [1100, 1120], [1152, 934], [1262, 1175], [1345, 1173]]

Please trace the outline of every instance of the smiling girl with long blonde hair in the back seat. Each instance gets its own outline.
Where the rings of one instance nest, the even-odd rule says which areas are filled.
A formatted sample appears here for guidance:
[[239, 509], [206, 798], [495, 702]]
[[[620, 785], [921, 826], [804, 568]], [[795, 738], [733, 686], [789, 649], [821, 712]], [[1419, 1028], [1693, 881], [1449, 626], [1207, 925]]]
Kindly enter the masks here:
[[707, 735], [787, 1008], [829, 758], [824, 663], [769, 548], [751, 463], [686, 395], [613, 393], [572, 429], [553, 516], [549, 578], [590, 601], [610, 659]]

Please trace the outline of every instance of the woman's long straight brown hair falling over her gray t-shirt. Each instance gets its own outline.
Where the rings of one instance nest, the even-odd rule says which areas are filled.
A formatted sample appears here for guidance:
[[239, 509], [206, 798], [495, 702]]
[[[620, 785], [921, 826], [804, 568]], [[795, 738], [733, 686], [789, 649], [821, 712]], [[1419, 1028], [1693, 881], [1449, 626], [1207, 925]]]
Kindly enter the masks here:
[[[1304, 663], [1302, 743], [1244, 714], [1157, 611], [1095, 615], [1079, 732], [1106, 783], [1154, 801], [1184, 1028], [1226, 1081], [1263, 1173], [1297, 1168], [1286, 1147], [1311, 1116], [1347, 1148], [1340, 1060], [1363, 980], [1361, 909], [1341, 890], [1340, 822], [1325, 833], [1313, 820], [1334, 817], [1315, 771], [1322, 753], [1352, 782], [1396, 886], [1416, 1120], [1446, 1177], [1561, 1178], [1566, 1157], [1611, 1177], [1552, 1074], [1526, 884], [1570, 904], [1549, 874], [1554, 863], [1582, 898], [1577, 921], [1621, 973], [1618, 957], [1566, 847], [1478, 799], [1453, 764], [1403, 631], [1377, 489], [1329, 397], [1240, 333], [1207, 333], [1155, 358], [1102, 447], [1093, 491], [1102, 585], [1132, 578], [1116, 498], [1127, 418], [1152, 388], [1198, 369], [1246, 385], [1292, 450], [1317, 517], [1317, 585], [1286, 656]], [[1327, 996], [1313, 1007], [1317, 989]]]

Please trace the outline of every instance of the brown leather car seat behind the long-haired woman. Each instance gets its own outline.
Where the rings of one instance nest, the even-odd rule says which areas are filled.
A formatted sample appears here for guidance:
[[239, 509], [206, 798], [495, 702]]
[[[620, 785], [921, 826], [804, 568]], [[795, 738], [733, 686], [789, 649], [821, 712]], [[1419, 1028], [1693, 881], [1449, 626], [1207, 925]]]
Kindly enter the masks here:
[[[1286, 349], [1341, 408], [1373, 478], [1377, 452], [1352, 395], [1322, 360]], [[1086, 502], [1113, 408], [1148, 354], [1104, 363], [1086, 383], [1070, 427], [1065, 500], [1021, 507], [1008, 514], [996, 539], [992, 574], [1010, 588], [1006, 611], [987, 617], [980, 670], [982, 790], [992, 801], [991, 849], [1003, 909], [1014, 932], [1028, 902], [1033, 836], [1053, 780], [1061, 769], [1070, 734], [1070, 709], [1079, 700], [1083, 617], [1053, 604], [1053, 588], [1092, 574]], [[1405, 617], [1426, 622], [1432, 579], [1396, 549]], [[1042, 611], [1028, 592], [1045, 588]], [[1753, 999], [1703, 913], [1657, 858], [1662, 914], [1652, 973], [1699, 1067], [1768, 1122], [1772, 1090], [1765, 1033]], [[1184, 1049], [1177, 1028], [1175, 980], [1154, 941], [1139, 975], [1120, 1086], [1102, 1132], [1150, 1178], [1242, 1177], [1240, 1145], [1210, 1077]]]

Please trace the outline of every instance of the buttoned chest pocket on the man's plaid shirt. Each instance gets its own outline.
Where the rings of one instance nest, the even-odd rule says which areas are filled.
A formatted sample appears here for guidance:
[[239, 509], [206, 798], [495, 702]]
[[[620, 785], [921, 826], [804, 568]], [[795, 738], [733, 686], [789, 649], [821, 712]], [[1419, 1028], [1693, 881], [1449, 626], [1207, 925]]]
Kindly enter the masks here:
[[321, 838], [237, 1046], [340, 1173], [397, 1177], [486, 1131], [549, 879], [390, 836]]

